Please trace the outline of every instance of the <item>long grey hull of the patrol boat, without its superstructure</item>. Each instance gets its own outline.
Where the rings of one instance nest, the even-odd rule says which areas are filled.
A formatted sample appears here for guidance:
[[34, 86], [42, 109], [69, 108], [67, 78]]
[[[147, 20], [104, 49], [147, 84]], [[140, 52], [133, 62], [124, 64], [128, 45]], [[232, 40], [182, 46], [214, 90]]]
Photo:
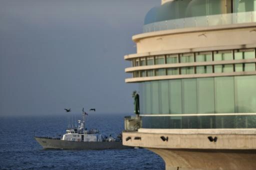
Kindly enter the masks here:
[[48, 137], [34, 137], [45, 149], [127, 149], [122, 141], [67, 141]]

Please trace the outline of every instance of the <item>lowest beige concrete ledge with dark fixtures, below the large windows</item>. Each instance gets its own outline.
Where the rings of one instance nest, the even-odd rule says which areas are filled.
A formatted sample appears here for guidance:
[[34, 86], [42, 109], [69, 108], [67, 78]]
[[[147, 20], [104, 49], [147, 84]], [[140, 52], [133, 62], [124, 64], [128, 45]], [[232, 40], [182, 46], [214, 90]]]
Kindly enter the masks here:
[[[141, 131], [140, 129], [139, 131]], [[176, 133], [154, 131], [148, 132], [122, 132], [122, 144], [137, 147], [168, 148], [168, 149], [256, 149], [255, 131], [247, 134], [246, 131], [228, 133], [227, 131], [175, 131]], [[179, 133], [180, 132], [180, 133]], [[244, 134], [242, 134], [244, 133]], [[163, 140], [161, 137], [167, 138]], [[216, 138], [215, 141], [209, 137]]]

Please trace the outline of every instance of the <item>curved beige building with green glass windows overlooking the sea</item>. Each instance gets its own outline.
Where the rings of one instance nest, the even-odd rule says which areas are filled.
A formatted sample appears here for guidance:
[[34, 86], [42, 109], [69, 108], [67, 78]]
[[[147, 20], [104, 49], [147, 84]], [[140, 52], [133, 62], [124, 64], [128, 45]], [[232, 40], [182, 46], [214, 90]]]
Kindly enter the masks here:
[[[213, 169], [256, 167], [256, 0], [162, 0], [132, 39], [125, 81], [139, 84], [142, 127], [123, 144], [149, 148], [169, 169], [211, 168], [192, 155]], [[250, 163], [232, 166], [242, 154]]]

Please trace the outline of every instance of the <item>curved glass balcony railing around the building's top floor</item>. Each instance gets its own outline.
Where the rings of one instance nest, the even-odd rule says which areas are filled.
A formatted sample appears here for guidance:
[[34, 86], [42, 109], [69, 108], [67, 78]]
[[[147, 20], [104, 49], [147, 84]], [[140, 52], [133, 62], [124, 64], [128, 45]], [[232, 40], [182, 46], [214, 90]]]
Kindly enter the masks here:
[[186, 17], [149, 23], [143, 26], [143, 32], [189, 27], [209, 27], [236, 23], [256, 22], [256, 11], [225, 13], [216, 15]]

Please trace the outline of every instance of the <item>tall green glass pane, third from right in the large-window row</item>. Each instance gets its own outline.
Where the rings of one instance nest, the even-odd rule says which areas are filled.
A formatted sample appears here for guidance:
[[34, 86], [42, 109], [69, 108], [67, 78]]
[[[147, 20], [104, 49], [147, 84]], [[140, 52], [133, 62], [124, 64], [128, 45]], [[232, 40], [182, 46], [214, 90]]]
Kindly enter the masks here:
[[213, 78], [197, 78], [198, 113], [214, 113]]

